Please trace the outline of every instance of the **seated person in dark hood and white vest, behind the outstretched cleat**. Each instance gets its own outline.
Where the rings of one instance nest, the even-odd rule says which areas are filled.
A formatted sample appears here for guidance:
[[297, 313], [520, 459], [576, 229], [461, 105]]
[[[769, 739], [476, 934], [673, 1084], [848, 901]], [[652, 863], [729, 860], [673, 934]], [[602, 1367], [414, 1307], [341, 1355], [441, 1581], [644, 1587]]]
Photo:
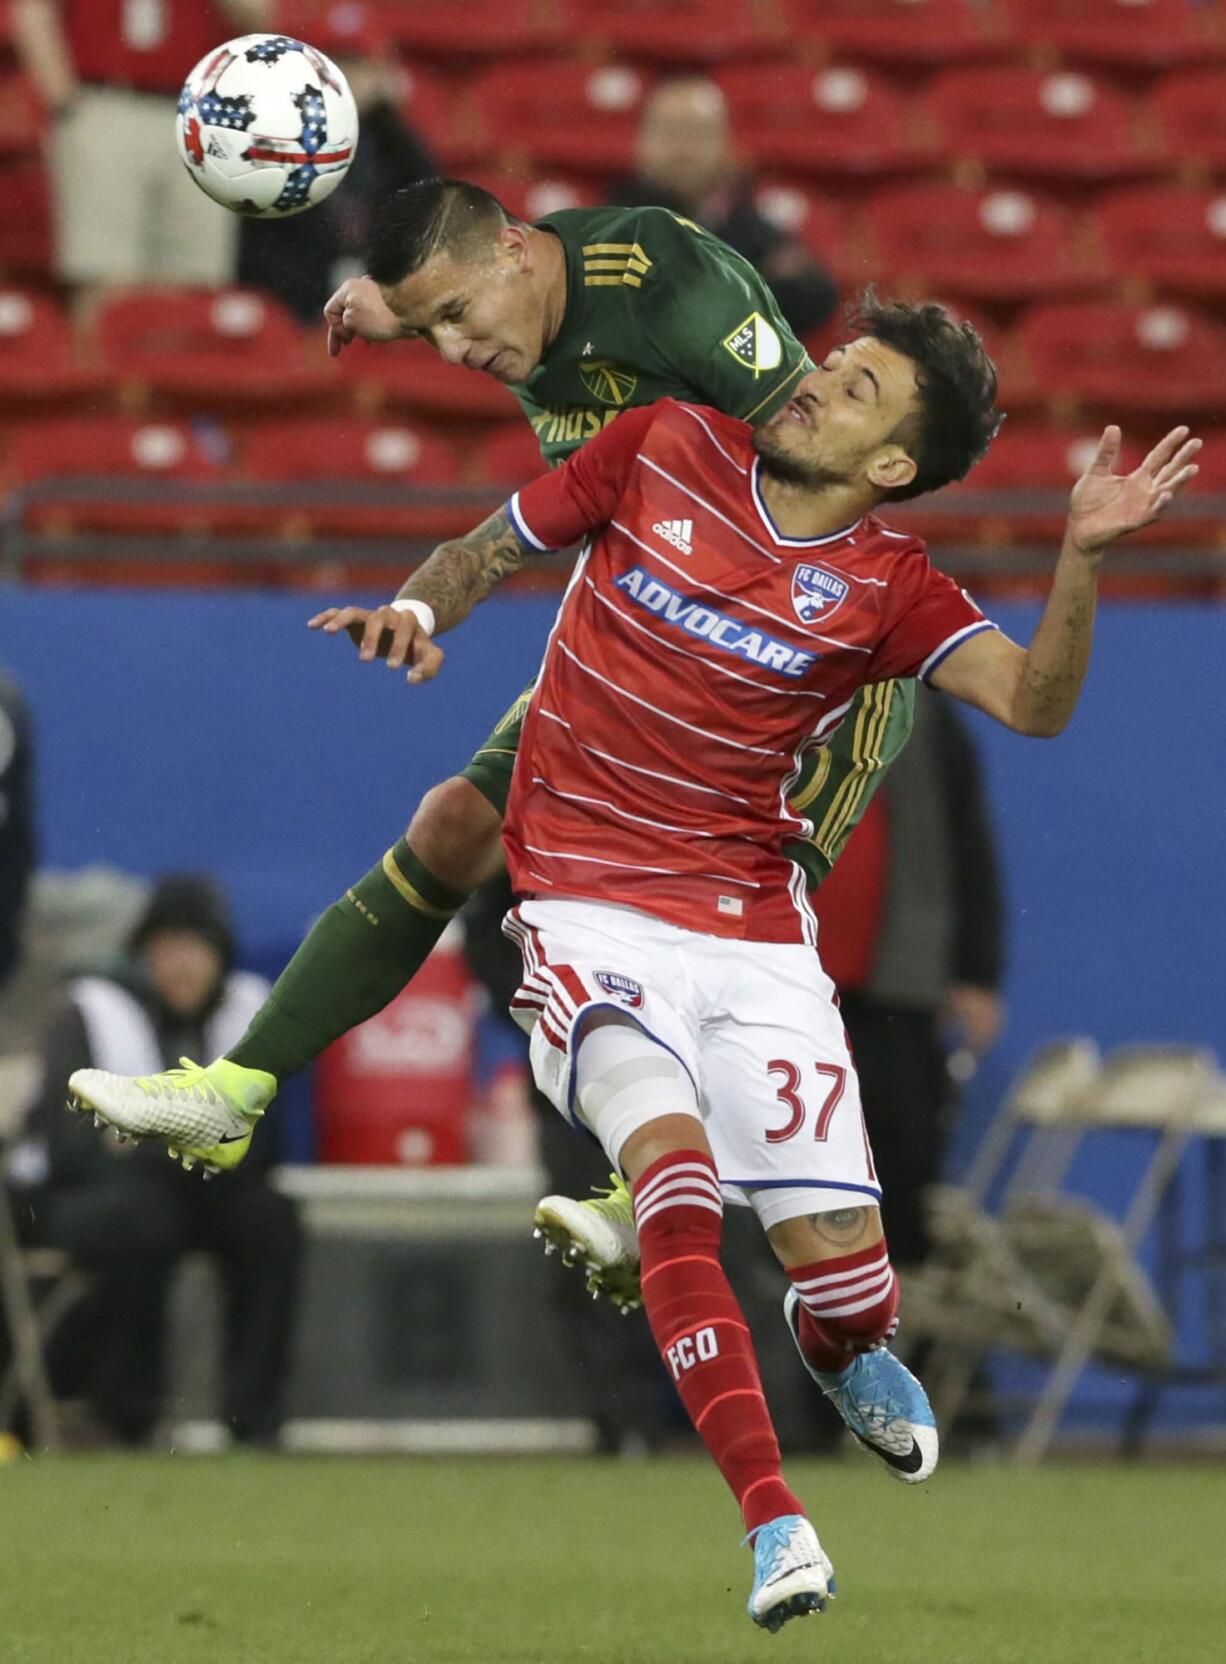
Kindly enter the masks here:
[[168, 1295], [191, 1251], [216, 1261], [225, 1290], [226, 1428], [256, 1444], [274, 1443], [281, 1428], [301, 1236], [293, 1203], [268, 1183], [274, 1140], [258, 1138], [225, 1183], [205, 1185], [161, 1145], [118, 1145], [65, 1113], [77, 1068], [145, 1075], [181, 1053], [231, 1047], [268, 992], [261, 977], [231, 968], [233, 952], [216, 887], [190, 874], [161, 879], [123, 960], [65, 987], [12, 1161], [30, 1240], [68, 1250], [93, 1275], [52, 1346], [57, 1391], [87, 1396], [128, 1444], [143, 1443], [161, 1414]]

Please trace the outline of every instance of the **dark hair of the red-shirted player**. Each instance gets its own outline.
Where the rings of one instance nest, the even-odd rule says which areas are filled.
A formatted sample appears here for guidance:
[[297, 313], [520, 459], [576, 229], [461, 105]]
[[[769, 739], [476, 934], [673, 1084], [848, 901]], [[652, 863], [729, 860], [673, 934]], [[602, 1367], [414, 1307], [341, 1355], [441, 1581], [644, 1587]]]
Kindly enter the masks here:
[[888, 503], [963, 479], [1005, 419], [996, 409], [996, 366], [970, 323], [955, 323], [943, 306], [878, 301], [872, 288], [850, 323], [915, 364], [920, 408], [898, 424], [895, 439], [915, 463], [915, 479], [885, 493]]

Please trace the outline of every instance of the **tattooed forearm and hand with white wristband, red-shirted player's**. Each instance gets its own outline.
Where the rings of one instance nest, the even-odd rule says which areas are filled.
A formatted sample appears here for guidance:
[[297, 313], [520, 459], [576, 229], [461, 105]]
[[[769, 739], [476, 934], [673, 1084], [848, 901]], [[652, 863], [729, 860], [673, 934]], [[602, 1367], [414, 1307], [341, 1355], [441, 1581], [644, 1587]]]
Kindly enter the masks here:
[[383, 607], [324, 607], [308, 627], [326, 636], [344, 631], [359, 657], [386, 659], [393, 671], [409, 664], [411, 682], [429, 682], [442, 666], [442, 649], [431, 636], [462, 624], [491, 589], [519, 571], [524, 554], [502, 508], [464, 537], [441, 542], [394, 601]]

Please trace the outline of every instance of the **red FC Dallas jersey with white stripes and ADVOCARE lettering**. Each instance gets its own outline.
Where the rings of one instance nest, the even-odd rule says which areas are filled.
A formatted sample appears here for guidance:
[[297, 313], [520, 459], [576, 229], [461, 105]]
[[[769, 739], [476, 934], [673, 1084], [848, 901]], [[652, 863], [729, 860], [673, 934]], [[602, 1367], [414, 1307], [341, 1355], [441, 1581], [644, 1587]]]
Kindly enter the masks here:
[[662, 399], [507, 504], [531, 549], [591, 541], [524, 721], [504, 839], [521, 895], [817, 942], [792, 812], [802, 754], [865, 682], [993, 629], [918, 539], [865, 516], [784, 537], [752, 428]]

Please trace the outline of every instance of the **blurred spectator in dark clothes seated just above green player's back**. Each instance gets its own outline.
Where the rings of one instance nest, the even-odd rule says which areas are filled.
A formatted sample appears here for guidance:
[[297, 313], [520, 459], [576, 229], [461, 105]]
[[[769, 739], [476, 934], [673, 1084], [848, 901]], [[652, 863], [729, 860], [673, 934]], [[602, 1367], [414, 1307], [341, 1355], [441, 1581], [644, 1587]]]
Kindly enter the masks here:
[[614, 181], [609, 201], [659, 203], [724, 238], [757, 266], [800, 336], [818, 329], [838, 303], [833, 278], [754, 205], [754, 181], [737, 165], [715, 82], [694, 75], [655, 87], [642, 110], [637, 171]]

